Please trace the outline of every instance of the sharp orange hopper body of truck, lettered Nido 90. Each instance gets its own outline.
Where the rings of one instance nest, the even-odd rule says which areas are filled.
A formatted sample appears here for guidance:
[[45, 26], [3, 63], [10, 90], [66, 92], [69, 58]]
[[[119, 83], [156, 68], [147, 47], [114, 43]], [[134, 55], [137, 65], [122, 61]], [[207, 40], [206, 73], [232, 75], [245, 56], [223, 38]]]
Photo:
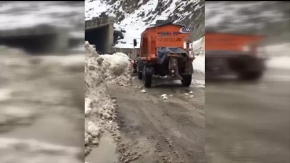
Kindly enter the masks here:
[[147, 28], [141, 34], [140, 54], [142, 59], [153, 61], [157, 59], [157, 50], [160, 47], [184, 48], [184, 42], [188, 42], [186, 49], [189, 49], [189, 33], [182, 33], [180, 30], [186, 28], [177, 24], [164, 24]]

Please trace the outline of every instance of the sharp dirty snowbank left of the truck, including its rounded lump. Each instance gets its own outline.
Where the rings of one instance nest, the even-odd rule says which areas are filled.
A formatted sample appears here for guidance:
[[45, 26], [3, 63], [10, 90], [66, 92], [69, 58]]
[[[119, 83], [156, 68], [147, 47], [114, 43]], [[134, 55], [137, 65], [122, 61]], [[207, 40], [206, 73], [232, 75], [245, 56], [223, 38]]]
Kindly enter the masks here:
[[108, 95], [107, 84], [131, 84], [128, 56], [123, 53], [99, 55], [87, 41], [85, 62], [85, 155], [99, 145], [102, 133], [109, 131], [118, 142], [116, 99]]

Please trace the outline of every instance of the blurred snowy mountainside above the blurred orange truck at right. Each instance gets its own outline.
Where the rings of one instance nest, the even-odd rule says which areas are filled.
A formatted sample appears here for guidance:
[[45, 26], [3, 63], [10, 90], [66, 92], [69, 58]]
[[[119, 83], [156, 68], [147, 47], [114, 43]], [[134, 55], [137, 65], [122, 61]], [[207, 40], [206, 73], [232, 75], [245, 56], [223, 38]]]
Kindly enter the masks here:
[[263, 34], [268, 42], [290, 41], [288, 1], [207, 1], [206, 30]]

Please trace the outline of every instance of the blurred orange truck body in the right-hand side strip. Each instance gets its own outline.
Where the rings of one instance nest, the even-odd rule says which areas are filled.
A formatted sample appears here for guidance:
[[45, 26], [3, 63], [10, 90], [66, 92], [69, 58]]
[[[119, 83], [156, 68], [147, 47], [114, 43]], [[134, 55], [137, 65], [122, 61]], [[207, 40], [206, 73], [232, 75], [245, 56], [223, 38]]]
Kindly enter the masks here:
[[206, 51], [244, 51], [245, 46], [251, 46], [251, 51], [256, 51], [265, 36], [244, 35], [234, 33], [205, 33]]

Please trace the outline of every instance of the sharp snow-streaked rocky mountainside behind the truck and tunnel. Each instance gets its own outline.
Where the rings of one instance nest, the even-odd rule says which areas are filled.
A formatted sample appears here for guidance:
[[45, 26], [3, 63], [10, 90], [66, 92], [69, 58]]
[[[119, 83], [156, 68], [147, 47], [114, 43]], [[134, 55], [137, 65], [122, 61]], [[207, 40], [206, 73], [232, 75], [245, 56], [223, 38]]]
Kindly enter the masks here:
[[115, 30], [122, 31], [115, 47], [133, 48], [145, 28], [164, 22], [195, 28], [192, 39], [204, 35], [204, 0], [86, 0], [85, 20], [115, 17]]

